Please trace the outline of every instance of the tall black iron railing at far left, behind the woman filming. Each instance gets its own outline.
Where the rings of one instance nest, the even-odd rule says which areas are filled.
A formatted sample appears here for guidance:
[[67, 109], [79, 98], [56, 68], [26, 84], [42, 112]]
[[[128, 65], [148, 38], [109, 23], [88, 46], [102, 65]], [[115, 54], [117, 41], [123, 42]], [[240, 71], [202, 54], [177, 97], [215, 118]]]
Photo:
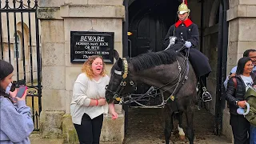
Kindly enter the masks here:
[[26, 104], [31, 107], [34, 130], [39, 130], [42, 111], [42, 62], [37, 10], [37, 0], [0, 0], [0, 58], [14, 66], [14, 79], [18, 85], [29, 88]]

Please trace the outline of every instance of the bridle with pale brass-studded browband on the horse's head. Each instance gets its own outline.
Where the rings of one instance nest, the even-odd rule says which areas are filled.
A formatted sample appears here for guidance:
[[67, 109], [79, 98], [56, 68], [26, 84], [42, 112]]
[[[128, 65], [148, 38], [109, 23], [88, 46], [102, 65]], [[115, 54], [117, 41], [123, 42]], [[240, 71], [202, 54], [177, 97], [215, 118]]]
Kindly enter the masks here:
[[[106, 90], [108, 92], [110, 92], [110, 94], [114, 95], [114, 99], [116, 99], [117, 101], [120, 101], [121, 98], [121, 94], [122, 94], [122, 90], [124, 90], [127, 82], [129, 81], [129, 77], [128, 77], [128, 62], [126, 58], [122, 58], [122, 71], [118, 71], [118, 70], [114, 70], [114, 74], [118, 74], [118, 75], [122, 75], [122, 81], [120, 82], [120, 84], [118, 85], [118, 89], [114, 92], [110, 89], [108, 89], [108, 85], [106, 85]], [[137, 89], [137, 87], [134, 85], [134, 82], [132, 80], [130, 80], [130, 86], [132, 86], [134, 88], [134, 90]]]

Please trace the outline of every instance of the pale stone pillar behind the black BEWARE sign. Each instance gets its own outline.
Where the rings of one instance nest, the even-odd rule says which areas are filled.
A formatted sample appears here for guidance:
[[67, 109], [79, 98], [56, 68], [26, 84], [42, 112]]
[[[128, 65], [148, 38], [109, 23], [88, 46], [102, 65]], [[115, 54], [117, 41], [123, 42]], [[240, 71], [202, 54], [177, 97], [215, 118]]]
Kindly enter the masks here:
[[[77, 143], [70, 117], [70, 101], [75, 79], [82, 64], [70, 63], [70, 31], [114, 32], [114, 49], [122, 56], [122, 0], [64, 0], [40, 2], [42, 44], [42, 114], [43, 138], [64, 138]], [[112, 65], [107, 65], [108, 74]], [[119, 118], [104, 117], [102, 142], [122, 143], [124, 112], [116, 106]]]

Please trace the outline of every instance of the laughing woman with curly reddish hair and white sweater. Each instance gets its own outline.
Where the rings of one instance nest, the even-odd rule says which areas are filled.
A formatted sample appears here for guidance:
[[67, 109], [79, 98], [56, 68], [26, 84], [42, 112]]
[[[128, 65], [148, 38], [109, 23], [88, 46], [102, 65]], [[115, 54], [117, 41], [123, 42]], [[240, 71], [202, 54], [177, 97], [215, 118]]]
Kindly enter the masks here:
[[[105, 87], [109, 81], [102, 57], [95, 55], [83, 64], [82, 74], [74, 82], [70, 112], [80, 144], [99, 143], [103, 114], [108, 111]], [[118, 118], [114, 103], [109, 106], [112, 118]]]

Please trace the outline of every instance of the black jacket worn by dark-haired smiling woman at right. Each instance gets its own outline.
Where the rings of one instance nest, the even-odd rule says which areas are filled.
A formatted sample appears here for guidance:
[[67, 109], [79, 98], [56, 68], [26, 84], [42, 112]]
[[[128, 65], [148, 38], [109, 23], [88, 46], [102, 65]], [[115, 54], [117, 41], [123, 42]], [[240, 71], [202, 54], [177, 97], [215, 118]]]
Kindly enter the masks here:
[[[234, 86], [233, 78], [237, 79], [237, 88]], [[251, 78], [253, 78], [254, 85], [256, 84], [256, 75], [251, 74]], [[234, 76], [229, 79], [227, 82], [227, 88], [226, 88], [226, 101], [230, 105], [230, 114], [236, 114], [238, 106], [236, 105], [236, 101], [244, 101], [244, 95], [246, 94], [246, 85], [242, 81], [242, 78], [240, 76]]]

